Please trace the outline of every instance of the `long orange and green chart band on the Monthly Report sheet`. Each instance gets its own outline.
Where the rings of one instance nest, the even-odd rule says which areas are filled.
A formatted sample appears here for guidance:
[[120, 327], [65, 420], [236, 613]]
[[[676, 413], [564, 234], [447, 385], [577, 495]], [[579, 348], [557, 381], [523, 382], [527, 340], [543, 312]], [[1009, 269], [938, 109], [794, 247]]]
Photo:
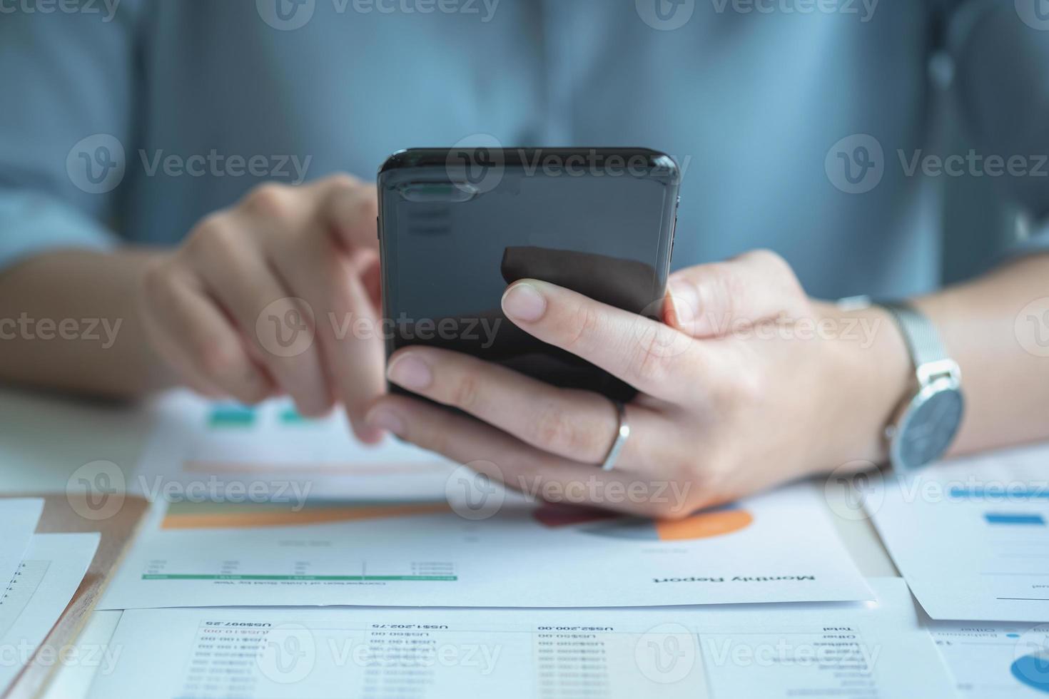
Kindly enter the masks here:
[[173, 502], [162, 529], [239, 529], [287, 527], [379, 520], [449, 511], [447, 502], [318, 502], [296, 509], [290, 503]]

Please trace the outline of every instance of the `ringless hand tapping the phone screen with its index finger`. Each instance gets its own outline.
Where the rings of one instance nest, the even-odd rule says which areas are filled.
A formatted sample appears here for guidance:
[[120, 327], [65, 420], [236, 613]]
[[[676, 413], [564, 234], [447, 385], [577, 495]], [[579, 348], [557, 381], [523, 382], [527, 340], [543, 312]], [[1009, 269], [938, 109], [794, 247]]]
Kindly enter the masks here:
[[357, 436], [378, 441], [363, 418], [385, 391], [382, 340], [343, 333], [378, 327], [376, 216], [373, 185], [334, 175], [262, 184], [206, 217], [144, 277], [154, 351], [209, 396], [286, 393], [304, 415], [339, 400]]

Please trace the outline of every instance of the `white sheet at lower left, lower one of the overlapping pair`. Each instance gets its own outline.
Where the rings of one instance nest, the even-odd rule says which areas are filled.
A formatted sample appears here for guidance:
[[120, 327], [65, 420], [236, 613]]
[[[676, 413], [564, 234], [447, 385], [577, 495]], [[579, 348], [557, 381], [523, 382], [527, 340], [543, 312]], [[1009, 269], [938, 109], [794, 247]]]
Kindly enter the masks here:
[[[84, 580], [99, 533], [34, 534], [0, 597], [0, 694], [33, 658]], [[60, 662], [50, 649], [40, 662]]]

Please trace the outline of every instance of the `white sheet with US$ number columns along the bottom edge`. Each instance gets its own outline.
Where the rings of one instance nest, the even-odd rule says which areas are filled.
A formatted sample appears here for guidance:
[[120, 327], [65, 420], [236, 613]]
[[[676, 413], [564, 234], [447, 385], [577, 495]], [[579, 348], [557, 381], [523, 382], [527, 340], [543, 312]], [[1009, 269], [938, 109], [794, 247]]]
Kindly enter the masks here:
[[899, 578], [879, 603], [125, 612], [97, 699], [954, 696]]

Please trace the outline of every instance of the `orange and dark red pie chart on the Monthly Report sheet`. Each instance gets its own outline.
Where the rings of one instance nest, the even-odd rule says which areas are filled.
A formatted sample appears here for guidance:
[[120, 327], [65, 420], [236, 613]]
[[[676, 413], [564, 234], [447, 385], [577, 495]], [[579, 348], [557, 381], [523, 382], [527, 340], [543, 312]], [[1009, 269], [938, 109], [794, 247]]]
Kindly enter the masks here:
[[748, 527], [754, 517], [735, 506], [698, 512], [683, 520], [646, 520], [619, 517], [607, 511], [544, 505], [534, 512], [548, 527], [573, 526], [576, 531], [641, 541], [693, 541], [723, 537]]

